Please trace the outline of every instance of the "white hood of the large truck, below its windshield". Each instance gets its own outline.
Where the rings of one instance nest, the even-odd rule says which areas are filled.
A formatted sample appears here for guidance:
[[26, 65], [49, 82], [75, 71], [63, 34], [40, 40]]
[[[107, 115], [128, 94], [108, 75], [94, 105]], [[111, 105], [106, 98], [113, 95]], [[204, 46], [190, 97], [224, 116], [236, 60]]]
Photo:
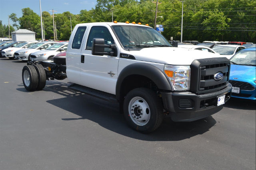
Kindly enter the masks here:
[[139, 51], [122, 50], [121, 53], [133, 55], [137, 60], [172, 65], [190, 65], [195, 59], [222, 57], [210, 52], [177, 47], [149, 47]]

